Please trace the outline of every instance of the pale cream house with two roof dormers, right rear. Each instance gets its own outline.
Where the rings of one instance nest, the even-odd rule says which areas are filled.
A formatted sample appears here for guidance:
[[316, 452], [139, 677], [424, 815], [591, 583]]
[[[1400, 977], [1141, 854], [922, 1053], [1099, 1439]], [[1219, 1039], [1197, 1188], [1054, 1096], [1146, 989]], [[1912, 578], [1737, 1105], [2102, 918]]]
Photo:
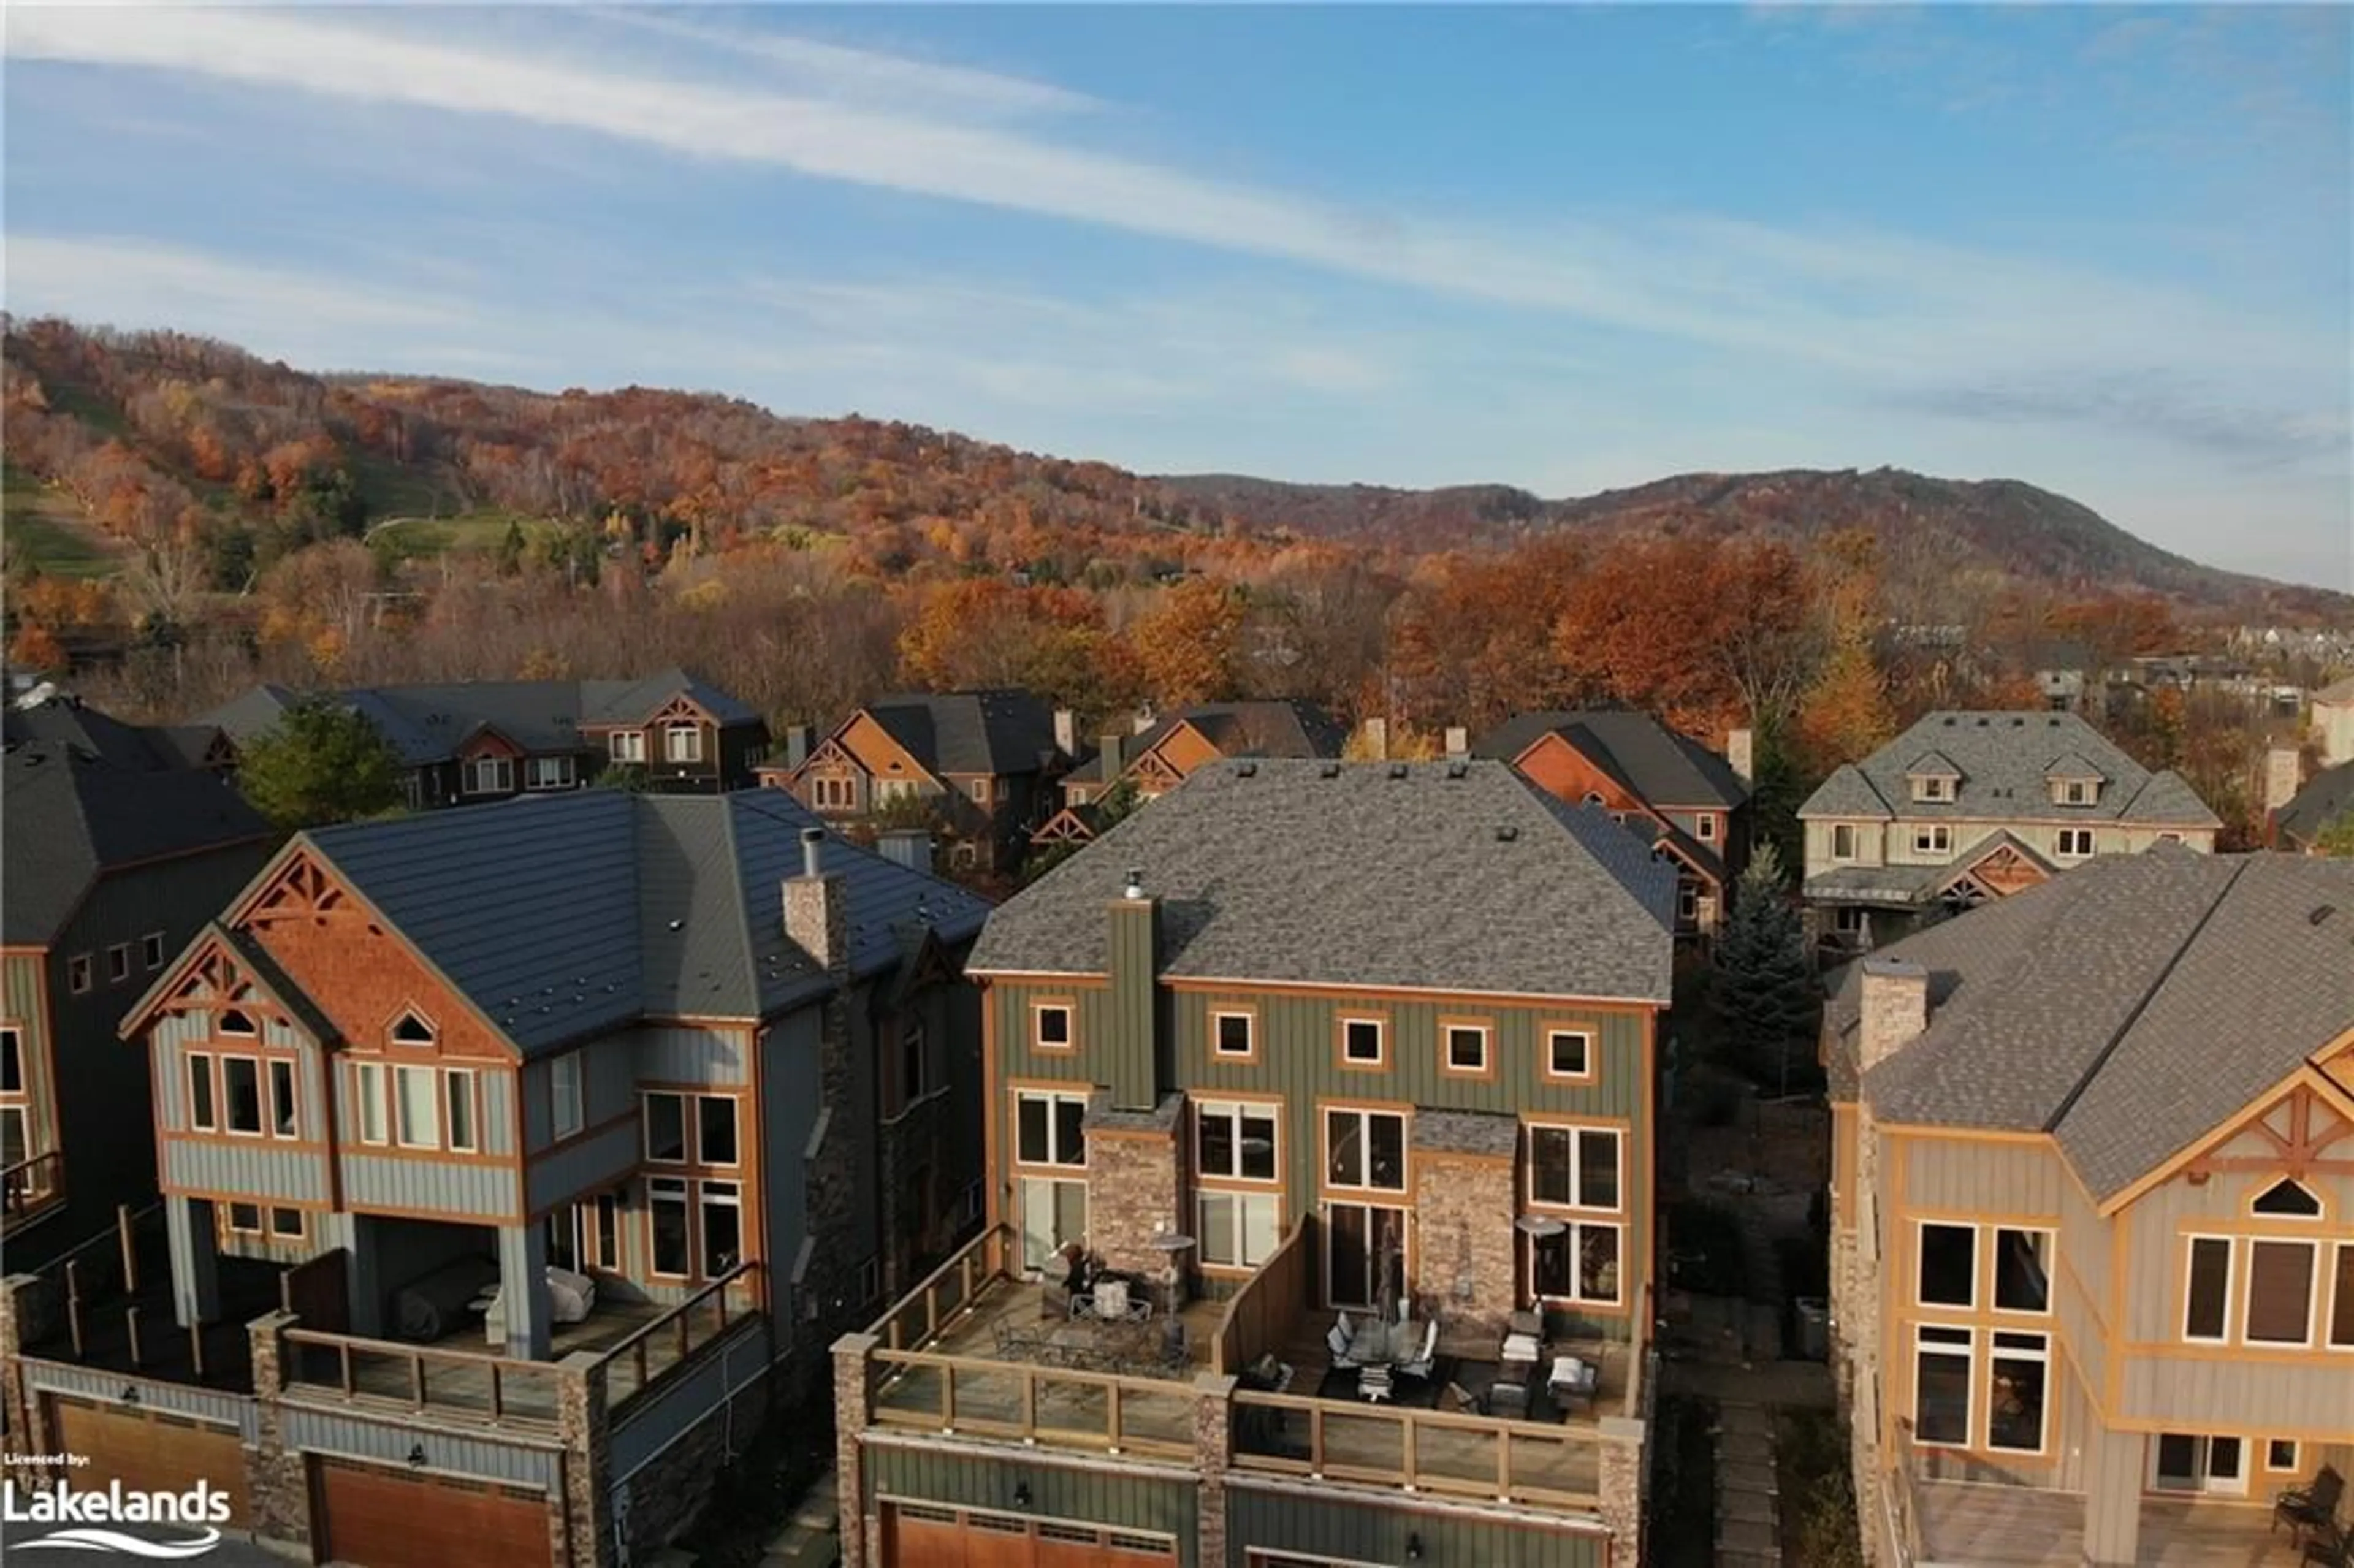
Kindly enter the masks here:
[[2213, 850], [2222, 819], [2074, 713], [1928, 713], [1798, 808], [1815, 942], [1869, 951], [1923, 918], [2159, 843]]

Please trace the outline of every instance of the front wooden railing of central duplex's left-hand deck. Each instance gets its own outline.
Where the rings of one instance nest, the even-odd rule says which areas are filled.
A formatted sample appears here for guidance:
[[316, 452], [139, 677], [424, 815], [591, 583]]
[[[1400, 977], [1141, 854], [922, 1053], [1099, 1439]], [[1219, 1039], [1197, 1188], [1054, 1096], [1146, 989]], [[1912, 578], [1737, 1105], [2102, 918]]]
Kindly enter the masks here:
[[876, 1349], [876, 1424], [1189, 1462], [1191, 1382]]

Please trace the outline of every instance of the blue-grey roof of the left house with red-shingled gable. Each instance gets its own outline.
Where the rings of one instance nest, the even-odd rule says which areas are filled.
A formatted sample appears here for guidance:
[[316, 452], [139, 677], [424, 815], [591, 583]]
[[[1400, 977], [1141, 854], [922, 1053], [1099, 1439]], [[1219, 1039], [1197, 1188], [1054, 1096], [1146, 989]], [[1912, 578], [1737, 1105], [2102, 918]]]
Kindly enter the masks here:
[[[784, 937], [800, 873], [791, 796], [574, 791], [471, 812], [320, 829], [308, 843], [525, 1055], [640, 1015], [767, 1017], [824, 991]], [[850, 899], [850, 968], [902, 954], [902, 928], [960, 942], [986, 904], [845, 838], [829, 871]]]

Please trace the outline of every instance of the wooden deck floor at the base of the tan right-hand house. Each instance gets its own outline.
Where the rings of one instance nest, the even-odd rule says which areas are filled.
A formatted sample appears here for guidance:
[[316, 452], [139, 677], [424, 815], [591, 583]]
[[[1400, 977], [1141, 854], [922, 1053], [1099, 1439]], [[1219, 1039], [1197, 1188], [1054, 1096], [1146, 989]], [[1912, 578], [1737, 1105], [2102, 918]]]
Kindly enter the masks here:
[[[2076, 1568], [2083, 1561], [2083, 1497], [2027, 1486], [1916, 1481], [1926, 1563]], [[2272, 1509], [2246, 1502], [2142, 1500], [2137, 1568], [2298, 1568]]]

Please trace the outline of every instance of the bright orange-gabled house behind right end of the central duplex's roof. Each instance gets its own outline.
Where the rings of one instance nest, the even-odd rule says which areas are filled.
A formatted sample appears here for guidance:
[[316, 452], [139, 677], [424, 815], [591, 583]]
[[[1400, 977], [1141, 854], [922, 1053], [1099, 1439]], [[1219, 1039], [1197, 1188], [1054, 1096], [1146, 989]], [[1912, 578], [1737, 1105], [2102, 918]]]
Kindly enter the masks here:
[[1725, 735], [1718, 756], [1650, 713], [1521, 713], [1471, 756], [1511, 763], [1537, 789], [1596, 805], [1676, 862], [1676, 935], [1709, 937], [1749, 864], [1751, 735]]

